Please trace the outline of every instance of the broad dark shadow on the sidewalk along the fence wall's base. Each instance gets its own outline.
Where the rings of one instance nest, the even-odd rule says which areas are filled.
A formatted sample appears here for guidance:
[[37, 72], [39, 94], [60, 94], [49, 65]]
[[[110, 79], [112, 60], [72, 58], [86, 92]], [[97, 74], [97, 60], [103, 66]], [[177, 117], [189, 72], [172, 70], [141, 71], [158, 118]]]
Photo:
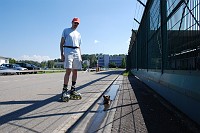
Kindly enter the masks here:
[[191, 121], [188, 122], [188, 118], [185, 118], [184, 114], [144, 83], [134, 76], [129, 76], [128, 80], [137, 98], [149, 133], [192, 133], [200, 131], [196, 127], [197, 125], [190, 124]]

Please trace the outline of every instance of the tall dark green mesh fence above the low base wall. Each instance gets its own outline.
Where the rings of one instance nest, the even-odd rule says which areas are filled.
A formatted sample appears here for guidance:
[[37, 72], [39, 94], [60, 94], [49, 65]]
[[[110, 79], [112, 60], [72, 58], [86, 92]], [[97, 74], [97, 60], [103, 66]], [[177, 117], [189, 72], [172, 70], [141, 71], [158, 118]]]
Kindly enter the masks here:
[[199, 0], [148, 0], [127, 69], [200, 70], [199, 12]]

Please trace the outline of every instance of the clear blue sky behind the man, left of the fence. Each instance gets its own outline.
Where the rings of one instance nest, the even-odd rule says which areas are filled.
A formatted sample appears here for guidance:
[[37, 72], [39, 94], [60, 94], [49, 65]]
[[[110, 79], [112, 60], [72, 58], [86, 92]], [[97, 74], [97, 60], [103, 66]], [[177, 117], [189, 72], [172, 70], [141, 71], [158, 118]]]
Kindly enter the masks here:
[[82, 54], [126, 54], [143, 10], [137, 0], [0, 0], [0, 56], [60, 58], [62, 31], [74, 17], [81, 19]]

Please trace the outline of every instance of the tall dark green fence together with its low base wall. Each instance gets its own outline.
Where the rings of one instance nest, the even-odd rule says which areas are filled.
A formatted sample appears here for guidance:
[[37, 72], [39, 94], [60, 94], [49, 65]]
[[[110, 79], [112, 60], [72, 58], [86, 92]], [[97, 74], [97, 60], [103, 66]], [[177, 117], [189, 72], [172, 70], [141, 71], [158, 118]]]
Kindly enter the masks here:
[[127, 69], [200, 125], [199, 12], [199, 0], [148, 0]]

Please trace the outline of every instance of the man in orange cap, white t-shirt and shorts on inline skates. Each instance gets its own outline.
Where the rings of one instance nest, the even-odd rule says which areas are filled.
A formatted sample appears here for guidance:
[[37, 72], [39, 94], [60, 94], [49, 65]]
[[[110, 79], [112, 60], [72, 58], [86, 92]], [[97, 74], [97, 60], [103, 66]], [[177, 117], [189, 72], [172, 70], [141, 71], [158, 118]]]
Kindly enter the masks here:
[[77, 70], [82, 68], [82, 59], [81, 59], [81, 35], [76, 30], [80, 24], [79, 18], [73, 18], [71, 28], [66, 28], [63, 30], [62, 38], [60, 42], [60, 52], [61, 60], [64, 61], [64, 68], [66, 69], [64, 76], [64, 85], [63, 85], [63, 95], [70, 97], [68, 93], [68, 82], [69, 77], [72, 72], [72, 86], [71, 86], [71, 95], [80, 96], [75, 89], [76, 80], [77, 80]]

